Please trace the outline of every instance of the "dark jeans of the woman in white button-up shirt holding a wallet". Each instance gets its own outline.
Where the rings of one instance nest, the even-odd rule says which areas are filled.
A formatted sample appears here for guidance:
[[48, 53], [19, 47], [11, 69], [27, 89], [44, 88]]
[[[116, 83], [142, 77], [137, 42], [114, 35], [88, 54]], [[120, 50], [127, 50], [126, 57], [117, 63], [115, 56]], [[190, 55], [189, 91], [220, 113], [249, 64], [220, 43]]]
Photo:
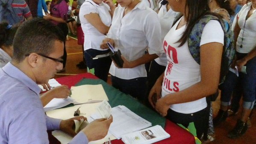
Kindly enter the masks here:
[[147, 77], [137, 77], [135, 79], [120, 79], [116, 76], [111, 76], [112, 86], [119, 89], [125, 94], [137, 98], [144, 103], [146, 97], [146, 82]]

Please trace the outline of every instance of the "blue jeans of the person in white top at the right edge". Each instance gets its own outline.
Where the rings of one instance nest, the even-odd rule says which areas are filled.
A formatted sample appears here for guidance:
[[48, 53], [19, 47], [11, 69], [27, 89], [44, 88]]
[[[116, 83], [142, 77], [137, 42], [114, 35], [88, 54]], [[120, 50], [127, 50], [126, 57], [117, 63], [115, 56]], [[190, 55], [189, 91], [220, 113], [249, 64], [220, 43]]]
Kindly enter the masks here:
[[[242, 59], [246, 55], [247, 53], [237, 53], [237, 58]], [[256, 57], [250, 59], [245, 66], [247, 74], [239, 72], [238, 82], [235, 85], [234, 97], [241, 97], [241, 95], [243, 95], [244, 102], [254, 103], [256, 88]]]

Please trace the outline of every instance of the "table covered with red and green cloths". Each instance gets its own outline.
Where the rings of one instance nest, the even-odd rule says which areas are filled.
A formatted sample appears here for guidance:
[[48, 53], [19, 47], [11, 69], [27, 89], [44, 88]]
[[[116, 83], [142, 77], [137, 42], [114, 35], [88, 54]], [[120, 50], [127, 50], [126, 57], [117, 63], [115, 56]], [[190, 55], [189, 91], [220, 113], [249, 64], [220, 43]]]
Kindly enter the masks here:
[[[96, 76], [92, 75], [91, 73], [82, 73], [74, 76], [66, 76], [66, 77], [57, 78], [56, 80], [62, 85], [68, 85], [69, 88], [74, 85], [82, 85], [85, 83], [90, 85], [102, 84], [108, 97], [110, 94], [113, 93], [113, 91], [115, 92], [118, 91], [112, 86], [108, 85], [103, 80], [98, 79]], [[122, 92], [120, 92], [120, 94], [121, 94], [121, 97], [125, 97], [131, 100], [133, 99], [131, 96], [129, 95], [127, 96], [127, 94], [124, 94]], [[118, 105], [127, 106], [127, 108], [132, 110], [132, 112], [135, 112], [136, 114], [139, 114], [142, 118], [149, 120], [152, 123], [152, 126], [156, 124], [159, 124], [161, 126], [165, 125], [164, 126], [165, 131], [168, 132], [171, 135], [171, 137], [165, 140], [156, 142], [155, 144], [195, 144], [194, 136], [191, 135], [191, 133], [181, 128], [177, 124], [171, 122], [170, 120], [161, 118], [160, 115], [156, 114], [156, 112], [147, 108], [146, 106], [140, 104], [137, 100], [132, 100], [132, 104], [130, 104], [127, 101], [122, 101], [122, 98], [120, 97], [109, 97], [109, 103], [112, 107], [118, 106]], [[146, 113], [141, 111], [142, 108], [144, 112], [146, 111]], [[154, 116], [153, 119], [152, 119], [152, 116]], [[56, 140], [54, 141], [56, 143]], [[120, 140], [113, 140], [112, 144], [124, 144], [124, 143], [120, 139]]]

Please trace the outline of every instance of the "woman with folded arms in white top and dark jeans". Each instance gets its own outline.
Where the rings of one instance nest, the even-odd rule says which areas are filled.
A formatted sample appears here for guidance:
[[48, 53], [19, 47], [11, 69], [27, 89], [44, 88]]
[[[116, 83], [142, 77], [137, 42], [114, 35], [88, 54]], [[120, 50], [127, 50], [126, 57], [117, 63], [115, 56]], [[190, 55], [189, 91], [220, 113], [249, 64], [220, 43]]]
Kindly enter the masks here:
[[[111, 59], [109, 50], [100, 49], [112, 21], [115, 5], [112, 0], [85, 0], [79, 11], [82, 31], [84, 33], [84, 58], [87, 72], [107, 81]], [[100, 55], [105, 55], [100, 57]]]

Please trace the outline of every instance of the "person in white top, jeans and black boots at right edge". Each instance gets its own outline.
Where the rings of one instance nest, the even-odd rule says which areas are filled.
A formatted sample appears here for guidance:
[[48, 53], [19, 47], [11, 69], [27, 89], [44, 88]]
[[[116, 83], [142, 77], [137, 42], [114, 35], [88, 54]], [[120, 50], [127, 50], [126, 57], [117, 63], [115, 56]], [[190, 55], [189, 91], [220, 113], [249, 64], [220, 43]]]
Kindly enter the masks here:
[[[236, 66], [239, 71], [234, 97], [243, 95], [243, 109], [229, 138], [238, 138], [247, 131], [247, 120], [255, 103], [256, 88], [256, 0], [245, 4], [237, 15], [234, 28]], [[242, 72], [242, 68], [244, 71]]]

